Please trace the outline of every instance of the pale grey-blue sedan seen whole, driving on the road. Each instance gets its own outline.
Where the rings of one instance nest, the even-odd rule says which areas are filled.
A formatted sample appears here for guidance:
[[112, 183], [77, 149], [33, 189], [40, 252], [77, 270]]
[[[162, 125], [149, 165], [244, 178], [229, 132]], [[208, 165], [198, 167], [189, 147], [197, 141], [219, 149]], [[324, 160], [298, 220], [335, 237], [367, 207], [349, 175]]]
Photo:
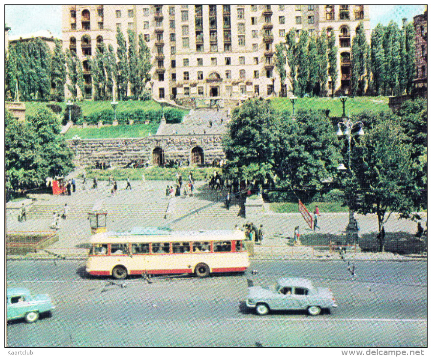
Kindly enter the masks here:
[[335, 308], [333, 292], [314, 287], [309, 279], [285, 277], [270, 287], [250, 287], [246, 305], [259, 315], [270, 310], [306, 310], [318, 315], [321, 309]]

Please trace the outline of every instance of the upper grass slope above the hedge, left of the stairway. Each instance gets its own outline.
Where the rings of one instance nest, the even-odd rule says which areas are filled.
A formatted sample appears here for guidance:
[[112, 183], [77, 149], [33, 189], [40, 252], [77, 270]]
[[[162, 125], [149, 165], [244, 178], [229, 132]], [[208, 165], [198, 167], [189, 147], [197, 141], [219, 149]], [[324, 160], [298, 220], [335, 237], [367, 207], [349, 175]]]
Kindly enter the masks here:
[[[104, 109], [113, 109], [111, 106], [111, 101], [90, 101], [83, 100], [81, 102], [75, 102], [75, 104], [79, 105], [83, 111], [83, 116], [88, 116], [94, 112], [100, 112]], [[66, 109], [66, 103], [57, 103], [57, 102], [25, 102], [25, 113], [27, 115], [35, 115], [40, 109], [46, 108], [47, 104], [57, 104], [62, 107], [63, 110]], [[118, 101], [117, 112], [133, 112], [136, 109], [142, 110], [160, 110], [159, 103], [154, 100], [146, 100], [144, 102], [139, 100], [127, 100], [127, 101]]]

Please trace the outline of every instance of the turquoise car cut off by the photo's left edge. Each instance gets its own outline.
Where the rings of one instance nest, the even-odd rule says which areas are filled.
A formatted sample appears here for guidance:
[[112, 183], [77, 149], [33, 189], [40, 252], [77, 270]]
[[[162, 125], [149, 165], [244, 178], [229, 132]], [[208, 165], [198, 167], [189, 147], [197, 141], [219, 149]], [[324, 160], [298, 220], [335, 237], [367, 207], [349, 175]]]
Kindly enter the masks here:
[[36, 322], [39, 315], [55, 309], [47, 294], [33, 295], [26, 288], [6, 289], [7, 320], [24, 318], [26, 322]]

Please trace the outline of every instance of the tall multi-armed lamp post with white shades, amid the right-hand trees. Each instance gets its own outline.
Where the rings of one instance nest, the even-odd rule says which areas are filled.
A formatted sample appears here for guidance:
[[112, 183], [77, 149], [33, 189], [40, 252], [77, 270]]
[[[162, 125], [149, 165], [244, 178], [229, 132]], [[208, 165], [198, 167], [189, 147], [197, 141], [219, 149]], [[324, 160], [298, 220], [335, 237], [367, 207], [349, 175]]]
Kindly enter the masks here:
[[[343, 102], [342, 102], [343, 103]], [[342, 133], [341, 126], [344, 125], [346, 130], [345, 133]], [[351, 119], [348, 118], [348, 120], [344, 123], [343, 121], [338, 123], [339, 130], [336, 133], [338, 136], [346, 135], [346, 139], [348, 141], [348, 169], [345, 167], [343, 163], [339, 165], [338, 170], [348, 170], [348, 175], [351, 177], [351, 139], [352, 139], [352, 130], [354, 127], [360, 127], [358, 135], [364, 135], [363, 126], [364, 124], [361, 121], [358, 122], [352, 122]], [[346, 240], [347, 242], [359, 242], [359, 234], [358, 234], [358, 227], [357, 223], [354, 220], [354, 210], [352, 207], [353, 203], [349, 202], [349, 221], [348, 225], [346, 226]]]

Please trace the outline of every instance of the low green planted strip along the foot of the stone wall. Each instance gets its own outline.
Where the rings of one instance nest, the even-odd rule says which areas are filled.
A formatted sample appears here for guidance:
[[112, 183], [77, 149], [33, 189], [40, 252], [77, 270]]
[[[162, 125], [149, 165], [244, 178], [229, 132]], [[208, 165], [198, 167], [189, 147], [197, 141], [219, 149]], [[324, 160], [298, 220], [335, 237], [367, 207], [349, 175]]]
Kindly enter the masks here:
[[189, 172], [193, 173], [195, 180], [203, 180], [204, 176], [210, 176], [215, 170], [214, 167], [183, 167], [176, 169], [174, 167], [163, 168], [159, 166], [152, 166], [141, 169], [129, 169], [129, 168], [115, 168], [112, 170], [93, 170], [87, 168], [87, 179], [93, 179], [97, 177], [98, 180], [108, 180], [110, 175], [113, 175], [115, 180], [121, 181], [126, 180], [128, 177], [131, 180], [141, 180], [142, 174], [145, 175], [146, 180], [175, 180], [176, 173], [182, 174], [183, 181], [187, 181]]

